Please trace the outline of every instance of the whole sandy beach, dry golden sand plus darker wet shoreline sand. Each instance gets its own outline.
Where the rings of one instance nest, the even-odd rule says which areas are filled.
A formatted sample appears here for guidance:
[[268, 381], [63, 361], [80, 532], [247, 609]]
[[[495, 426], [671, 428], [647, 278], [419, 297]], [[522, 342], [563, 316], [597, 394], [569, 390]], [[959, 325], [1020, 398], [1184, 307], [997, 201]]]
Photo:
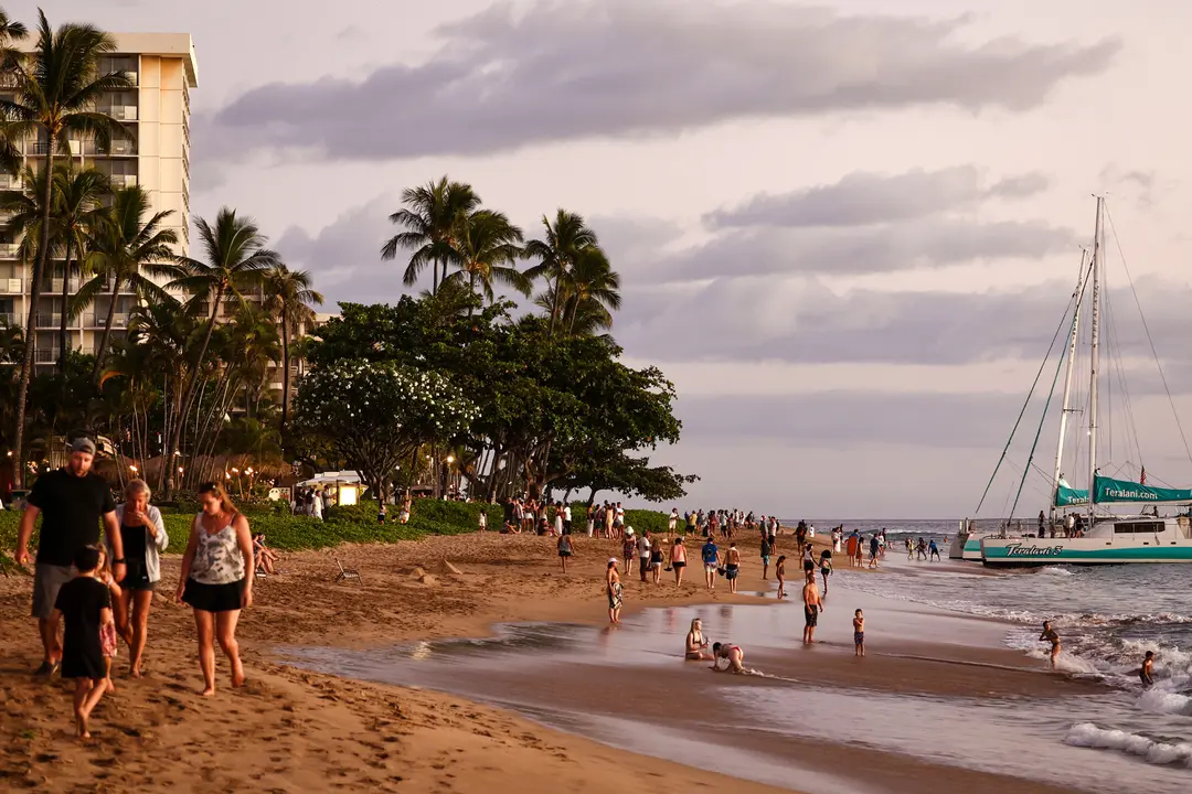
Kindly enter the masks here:
[[[780, 611], [789, 615], [795, 607], [775, 605], [771, 596], [758, 595], [768, 593], [769, 582], [759, 579], [756, 548], [738, 545], [745, 559], [740, 595], [730, 596], [724, 582], [715, 594], [706, 593], [702, 577], [691, 581], [693, 575], [699, 577], [697, 570], [688, 573], [683, 588], [676, 588], [669, 576], [662, 586], [641, 584], [637, 576], [625, 577], [627, 621], [670, 613], [673, 619], [662, 618], [664, 623], [652, 632], [654, 638], [665, 636], [668, 648], [681, 645], [687, 629], [685, 618], [676, 615], [697, 604], [710, 604], [700, 608], [720, 620], [727, 605], [739, 609], [764, 602], [769, 606], [741, 614], [756, 612], [774, 615], [766, 620], [775, 626], [789, 624]], [[789, 554], [790, 545], [789, 537], [780, 538], [781, 551]], [[0, 788], [156, 790], [168, 786], [194, 792], [255, 788], [488, 794], [493, 784], [496, 790], [516, 784], [529, 792], [582, 792], [648, 781], [651, 790], [659, 794], [722, 786], [746, 793], [814, 788], [931, 794], [956, 790], [957, 786], [973, 792], [1075, 790], [914, 759], [901, 752], [873, 748], [858, 752], [855, 743], [838, 739], [753, 730], [734, 731], [731, 738], [718, 740], [726, 746], [747, 744], [758, 757], [790, 756], [799, 763], [782, 764], [781, 774], [765, 781], [750, 774], [760, 762], [738, 767], [719, 758], [709, 764], [707, 745], [693, 738], [706, 731], [702, 720], [708, 714], [696, 705], [700, 719], [688, 723], [683, 720], [687, 712], [673, 705], [699, 698], [709, 681], [728, 679], [759, 693], [776, 692], [776, 682], [715, 676], [703, 669], [706, 665], [677, 662], [669, 650], [645, 657], [650, 659], [645, 665], [637, 663], [640, 655], [620, 670], [579, 659], [572, 662], [573, 670], [567, 668], [560, 674], [551, 667], [548, 652], [530, 646], [510, 665], [523, 675], [507, 669], [490, 670], [485, 676], [498, 692], [436, 687], [433, 681], [420, 683], [409, 676], [387, 683], [365, 682], [361, 680], [378, 676], [354, 669], [342, 656], [344, 650], [366, 656], [386, 654], [395, 642], [490, 636], [497, 623], [564, 621], [585, 626], [589, 632], [604, 625], [603, 570], [607, 558], [617, 555], [615, 545], [579, 538], [578, 557], [567, 575], [559, 571], [550, 538], [489, 534], [284, 555], [280, 568], [285, 573], [259, 583], [256, 606], [242, 617], [240, 637], [250, 683], [242, 690], [224, 688], [215, 699], [195, 694], [200, 677], [188, 609], [157, 599], [145, 662], [150, 676], [139, 681], [123, 677], [126, 649], [120, 649], [119, 692], [105, 698], [97, 709], [95, 739], [89, 743], [69, 736], [66, 684], [36, 684], [27, 676], [39, 661], [36, 631], [26, 617], [30, 580], [0, 579], [0, 623], [5, 629], [0, 634]], [[689, 557], [696, 555], [697, 549], [689, 550]], [[359, 569], [362, 583], [336, 583], [335, 558]], [[178, 558], [167, 557], [162, 594], [173, 593], [176, 574]], [[838, 576], [838, 581], [842, 579]], [[857, 598], [862, 596], [849, 596], [850, 612]], [[997, 648], [1000, 627], [992, 621], [956, 624], [968, 627], [956, 639], [973, 646], [918, 640], [889, 644], [880, 651], [886, 656], [875, 652], [861, 667], [850, 659], [848, 620], [836, 618], [837, 605], [831, 598], [828, 604], [825, 623], [832, 627], [825, 625], [821, 630], [827, 640], [822, 645], [803, 650], [797, 648], [797, 631], [775, 631], [772, 646], [752, 645], [756, 650], [751, 650], [747, 662], [764, 664], [771, 675], [814, 677], [817, 687], [900, 694], [1076, 695], [1088, 686], [1031, 671], [1024, 657]], [[917, 626], [939, 629], [957, 620], [918, 608], [892, 608], [884, 614], [880, 600], [865, 605], [867, 614], [875, 609], [874, 618], [881, 618], [874, 621], [875, 651], [879, 640], [888, 639], [886, 632], [894, 634], [909, 627], [914, 634]], [[642, 614], [647, 607], [657, 612]], [[727, 613], [733, 614], [733, 609]], [[882, 626], [882, 621], [887, 625]], [[715, 630], [733, 638], [750, 636], [731, 627], [721, 624]], [[954, 636], [950, 631], [943, 633]], [[617, 652], [621, 638], [637, 637], [632, 626], [600, 636], [611, 638], [613, 652]], [[284, 663], [291, 661], [287, 650], [304, 646], [340, 652], [328, 668], [337, 675]], [[415, 646], [427, 651], [433, 644]], [[427, 652], [437, 661], [435, 651]], [[486, 650], [479, 656], [497, 658]], [[946, 661], [905, 658], [912, 656]], [[1000, 669], [1016, 664], [1023, 669]], [[219, 673], [219, 683], [225, 687], [223, 662]], [[476, 700], [490, 705], [480, 706]], [[509, 711], [513, 708], [523, 717], [514, 715]], [[581, 718], [600, 725], [579, 724], [576, 720]], [[646, 724], [653, 727], [644, 727]], [[633, 738], [644, 730], [651, 734], [676, 732], [666, 745], [668, 752], [656, 754], [670, 761], [639, 755], [651, 752]], [[577, 732], [591, 738], [575, 736]], [[704, 771], [709, 765], [753, 780]], [[797, 774], [791, 774], [791, 767], [797, 768]]]

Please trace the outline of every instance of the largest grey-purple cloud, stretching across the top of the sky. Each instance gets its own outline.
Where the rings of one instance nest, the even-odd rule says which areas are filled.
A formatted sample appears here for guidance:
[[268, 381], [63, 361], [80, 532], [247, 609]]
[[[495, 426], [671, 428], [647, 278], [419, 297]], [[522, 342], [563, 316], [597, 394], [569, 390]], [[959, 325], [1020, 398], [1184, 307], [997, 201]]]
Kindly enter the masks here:
[[840, 111], [1025, 111], [1119, 49], [970, 44], [964, 24], [760, 0], [498, 4], [439, 27], [426, 62], [248, 90], [210, 119], [212, 150], [387, 160]]

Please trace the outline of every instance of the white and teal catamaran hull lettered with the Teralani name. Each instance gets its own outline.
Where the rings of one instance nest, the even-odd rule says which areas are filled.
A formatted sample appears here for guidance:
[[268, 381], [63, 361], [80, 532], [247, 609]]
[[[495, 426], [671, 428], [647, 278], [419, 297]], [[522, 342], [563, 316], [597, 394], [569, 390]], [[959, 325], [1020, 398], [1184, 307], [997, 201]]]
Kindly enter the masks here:
[[1192, 540], [1135, 545], [1105, 538], [982, 538], [981, 555], [986, 565], [1001, 568], [1192, 563]]

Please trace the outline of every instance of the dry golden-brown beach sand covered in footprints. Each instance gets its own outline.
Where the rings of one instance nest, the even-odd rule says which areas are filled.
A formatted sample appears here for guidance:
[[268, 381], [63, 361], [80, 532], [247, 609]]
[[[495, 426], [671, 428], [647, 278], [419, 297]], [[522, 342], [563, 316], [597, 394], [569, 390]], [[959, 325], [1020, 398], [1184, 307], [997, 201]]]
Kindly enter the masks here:
[[[783, 550], [793, 543], [780, 539]], [[739, 545], [747, 563], [743, 579], [753, 595], [730, 596], [724, 582], [709, 595], [693, 565], [682, 589], [669, 575], [657, 587], [640, 583], [637, 575], [625, 576], [627, 609], [763, 602], [756, 595], [764, 584], [757, 576], [756, 549]], [[697, 559], [697, 549], [688, 554]], [[0, 579], [0, 788], [595, 792], [646, 783], [658, 794], [721, 786], [746, 793], [780, 790], [616, 750], [446, 694], [303, 671], [279, 663], [273, 654], [287, 645], [370, 648], [417, 638], [476, 637], [505, 621], [600, 625], [607, 621], [604, 563], [614, 555], [620, 556], [613, 542], [579, 538], [571, 571], [564, 575], [552, 539], [496, 533], [283, 555], [284, 573], [259, 581], [255, 605], [241, 619], [249, 684], [230, 689], [221, 659], [222, 688], [212, 699], [197, 694], [201, 679], [191, 613], [172, 604], [179, 558], [168, 556], [150, 617], [149, 674], [128, 679], [122, 646], [118, 692], [95, 709], [94, 738], [86, 743], [72, 737], [69, 683], [30, 679], [41, 661], [36, 629], [27, 618], [31, 580]], [[358, 569], [361, 582], [337, 583], [336, 559]], [[938, 651], [900, 650], [906, 656]], [[989, 663], [1007, 661], [998, 657]], [[943, 663], [888, 657], [877, 664], [899, 665], [896, 677], [913, 688], [915, 681], [938, 680], [939, 670], [926, 665]], [[870, 667], [881, 670], [877, 664]], [[842, 686], [886, 677], [868, 668], [843, 670], [837, 673]], [[1026, 673], [997, 673], [999, 681], [1013, 679], [1004, 682], [1007, 689], [1047, 686], [1031, 683]], [[982, 680], [989, 686], [988, 675]], [[958, 689], [969, 683], [954, 682]], [[615, 690], [617, 684], [607, 686]], [[585, 696], [600, 692], [596, 684], [584, 689]], [[926, 683], [921, 689], [931, 690]], [[820, 743], [817, 752], [830, 767], [849, 765], [842, 746]], [[1017, 792], [1060, 790], [890, 754], [870, 757], [884, 758], [874, 773], [887, 783], [881, 790], [954, 790], [961, 780], [970, 792], [1004, 790], [998, 786], [1007, 784]], [[781, 790], [796, 788], [795, 781]]]

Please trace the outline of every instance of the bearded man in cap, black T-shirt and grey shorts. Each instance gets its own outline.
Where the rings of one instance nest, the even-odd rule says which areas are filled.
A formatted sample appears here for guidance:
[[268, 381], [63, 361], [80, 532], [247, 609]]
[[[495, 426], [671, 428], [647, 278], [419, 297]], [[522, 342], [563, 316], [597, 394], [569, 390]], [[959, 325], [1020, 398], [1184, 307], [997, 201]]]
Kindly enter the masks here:
[[124, 579], [124, 543], [116, 520], [116, 502], [107, 482], [92, 473], [94, 459], [95, 444], [89, 438], [75, 439], [67, 467], [38, 477], [25, 500], [25, 514], [17, 534], [19, 565], [29, 562], [29, 539], [33, 536], [37, 517], [42, 517], [33, 567], [33, 617], [45, 658], [35, 675], [52, 675], [62, 662], [54, 602], [58, 588], [74, 577], [75, 552], [99, 542], [100, 519], [112, 546], [112, 577], [118, 582]]

